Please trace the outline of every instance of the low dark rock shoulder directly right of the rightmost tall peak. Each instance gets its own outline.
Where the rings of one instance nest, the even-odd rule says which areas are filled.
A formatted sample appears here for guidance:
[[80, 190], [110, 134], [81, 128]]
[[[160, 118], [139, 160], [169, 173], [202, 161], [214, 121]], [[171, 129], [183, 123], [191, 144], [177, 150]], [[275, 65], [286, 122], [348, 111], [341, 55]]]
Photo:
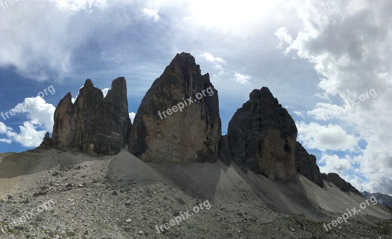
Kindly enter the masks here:
[[316, 164], [316, 156], [309, 154], [299, 142], [296, 142], [295, 145], [295, 165], [297, 172], [304, 175], [321, 188], [324, 187], [319, 166]]

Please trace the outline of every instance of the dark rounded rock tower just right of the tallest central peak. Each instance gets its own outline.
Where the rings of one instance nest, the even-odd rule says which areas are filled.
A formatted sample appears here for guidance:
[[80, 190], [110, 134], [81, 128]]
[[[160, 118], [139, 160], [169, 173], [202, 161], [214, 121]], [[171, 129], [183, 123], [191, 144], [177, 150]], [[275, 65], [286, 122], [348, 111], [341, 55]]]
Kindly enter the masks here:
[[253, 90], [229, 122], [228, 143], [239, 166], [271, 178], [296, 175], [294, 120], [267, 87]]

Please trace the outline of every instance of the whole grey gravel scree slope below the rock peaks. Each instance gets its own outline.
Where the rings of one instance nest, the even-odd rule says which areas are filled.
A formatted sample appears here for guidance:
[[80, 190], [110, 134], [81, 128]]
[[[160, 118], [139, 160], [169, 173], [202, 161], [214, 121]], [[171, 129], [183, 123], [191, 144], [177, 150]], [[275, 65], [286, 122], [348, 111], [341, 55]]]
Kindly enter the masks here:
[[[392, 238], [391, 214], [378, 205], [327, 233], [323, 223], [365, 199], [333, 185], [321, 189], [303, 176], [276, 182], [220, 162], [146, 164], [125, 150], [104, 157], [54, 149], [2, 154], [0, 192], [0, 227], [54, 203], [17, 228], [0, 229], [0, 238]], [[203, 210], [192, 212], [196, 205]], [[158, 233], [181, 215], [179, 226]]]

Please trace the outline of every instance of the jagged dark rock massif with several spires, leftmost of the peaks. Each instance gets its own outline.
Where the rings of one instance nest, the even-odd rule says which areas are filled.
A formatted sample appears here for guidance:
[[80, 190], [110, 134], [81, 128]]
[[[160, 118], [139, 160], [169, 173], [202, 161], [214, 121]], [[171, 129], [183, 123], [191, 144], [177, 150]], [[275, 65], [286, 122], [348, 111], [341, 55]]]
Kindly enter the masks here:
[[54, 112], [53, 146], [91, 154], [119, 153], [131, 129], [125, 78], [115, 79], [105, 98], [87, 79], [74, 104], [71, 99], [68, 93]]

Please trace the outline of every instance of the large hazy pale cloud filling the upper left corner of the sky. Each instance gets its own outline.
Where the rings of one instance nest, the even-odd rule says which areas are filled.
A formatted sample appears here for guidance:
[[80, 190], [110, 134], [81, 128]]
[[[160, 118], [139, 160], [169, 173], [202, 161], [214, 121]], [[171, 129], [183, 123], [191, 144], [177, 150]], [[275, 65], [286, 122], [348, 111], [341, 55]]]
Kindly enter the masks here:
[[0, 22], [7, 24], [0, 25], [0, 35], [7, 37], [0, 44], [0, 67], [14, 66], [17, 73], [37, 81], [64, 79], [73, 71], [74, 50], [92, 31], [79, 25], [81, 21], [73, 24], [75, 13], [105, 6], [105, 0], [26, 0], [2, 9]]

